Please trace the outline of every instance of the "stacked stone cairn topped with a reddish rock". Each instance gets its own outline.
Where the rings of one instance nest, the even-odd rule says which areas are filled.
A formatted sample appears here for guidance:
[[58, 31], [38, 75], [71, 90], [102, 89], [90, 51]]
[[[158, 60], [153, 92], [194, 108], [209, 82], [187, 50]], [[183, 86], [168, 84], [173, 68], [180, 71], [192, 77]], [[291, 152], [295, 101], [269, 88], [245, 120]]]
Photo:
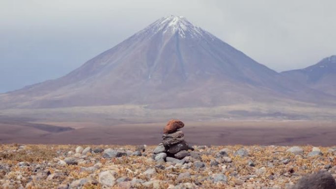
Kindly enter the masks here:
[[[180, 120], [168, 121], [162, 135], [162, 143], [153, 150], [152, 158], [157, 162], [178, 162], [190, 156], [188, 150], [194, 150], [184, 140], [184, 134], [180, 130], [184, 123]], [[183, 162], [180, 162], [183, 164]]]

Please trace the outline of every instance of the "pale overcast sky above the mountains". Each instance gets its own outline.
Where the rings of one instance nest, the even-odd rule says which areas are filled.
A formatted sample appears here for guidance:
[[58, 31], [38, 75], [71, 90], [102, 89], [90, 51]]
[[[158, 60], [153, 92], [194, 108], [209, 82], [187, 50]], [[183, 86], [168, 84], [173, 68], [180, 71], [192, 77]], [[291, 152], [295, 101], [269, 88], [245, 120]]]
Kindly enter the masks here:
[[169, 15], [278, 72], [336, 54], [336, 0], [0, 0], [0, 92], [61, 77]]

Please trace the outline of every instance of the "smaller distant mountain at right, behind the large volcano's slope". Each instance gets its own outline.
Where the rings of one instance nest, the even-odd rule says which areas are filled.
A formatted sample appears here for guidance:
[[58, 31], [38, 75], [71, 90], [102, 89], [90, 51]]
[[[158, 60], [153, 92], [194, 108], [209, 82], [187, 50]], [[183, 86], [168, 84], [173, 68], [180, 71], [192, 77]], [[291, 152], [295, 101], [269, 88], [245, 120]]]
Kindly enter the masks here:
[[307, 68], [281, 74], [311, 88], [336, 96], [336, 55], [323, 58], [317, 64]]

